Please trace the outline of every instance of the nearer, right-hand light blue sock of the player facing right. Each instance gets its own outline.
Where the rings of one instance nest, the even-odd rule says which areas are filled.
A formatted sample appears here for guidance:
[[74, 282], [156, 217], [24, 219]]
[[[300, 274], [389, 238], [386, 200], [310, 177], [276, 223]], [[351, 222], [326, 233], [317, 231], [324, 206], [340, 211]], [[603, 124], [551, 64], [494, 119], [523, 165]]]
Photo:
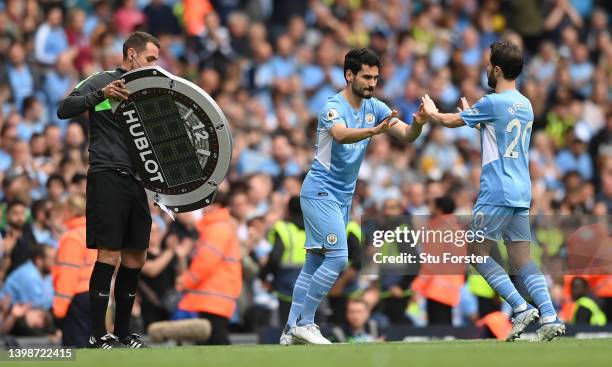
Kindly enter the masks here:
[[302, 318], [298, 321], [299, 326], [314, 324], [314, 315], [319, 304], [338, 279], [338, 274], [346, 266], [348, 261], [346, 254], [338, 257], [329, 257], [329, 255], [330, 253], [326, 254], [323, 264], [312, 276], [310, 288], [304, 299]]

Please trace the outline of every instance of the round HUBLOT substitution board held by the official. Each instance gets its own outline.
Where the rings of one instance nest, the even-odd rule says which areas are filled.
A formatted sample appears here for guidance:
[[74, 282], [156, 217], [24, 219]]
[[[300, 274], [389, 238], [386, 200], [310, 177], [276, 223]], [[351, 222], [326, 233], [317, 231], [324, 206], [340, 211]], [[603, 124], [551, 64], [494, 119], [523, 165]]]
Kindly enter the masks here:
[[156, 66], [122, 80], [126, 101], [111, 101], [147, 196], [169, 213], [209, 205], [228, 172], [232, 138], [225, 115], [197, 85]]

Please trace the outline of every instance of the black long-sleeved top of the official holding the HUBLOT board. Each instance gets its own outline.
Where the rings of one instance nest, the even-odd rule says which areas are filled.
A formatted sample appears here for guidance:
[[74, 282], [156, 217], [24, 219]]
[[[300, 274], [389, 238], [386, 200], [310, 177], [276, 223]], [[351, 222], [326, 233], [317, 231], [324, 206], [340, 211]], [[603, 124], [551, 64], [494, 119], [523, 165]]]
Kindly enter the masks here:
[[[89, 172], [125, 169], [134, 173], [128, 148], [110, 104], [101, 92], [126, 70], [102, 71], [77, 84], [57, 110], [57, 117], [70, 119], [89, 111]], [[96, 108], [98, 106], [98, 108]]]

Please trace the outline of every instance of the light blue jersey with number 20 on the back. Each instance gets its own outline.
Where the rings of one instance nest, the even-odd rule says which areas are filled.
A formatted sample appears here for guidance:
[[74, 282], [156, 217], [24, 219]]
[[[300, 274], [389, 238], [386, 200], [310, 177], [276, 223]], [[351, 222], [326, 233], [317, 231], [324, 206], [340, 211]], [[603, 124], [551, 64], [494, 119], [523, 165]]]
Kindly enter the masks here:
[[531, 103], [517, 90], [491, 93], [461, 112], [463, 121], [480, 124], [482, 173], [477, 204], [529, 208]]

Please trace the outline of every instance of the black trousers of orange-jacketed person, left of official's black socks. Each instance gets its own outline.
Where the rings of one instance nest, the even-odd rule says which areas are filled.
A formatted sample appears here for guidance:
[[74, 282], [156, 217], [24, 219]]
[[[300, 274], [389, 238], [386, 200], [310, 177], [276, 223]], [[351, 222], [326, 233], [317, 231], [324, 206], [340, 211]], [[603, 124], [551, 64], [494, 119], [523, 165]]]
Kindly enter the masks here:
[[62, 346], [85, 348], [90, 335], [89, 292], [78, 293], [72, 298], [62, 322]]

